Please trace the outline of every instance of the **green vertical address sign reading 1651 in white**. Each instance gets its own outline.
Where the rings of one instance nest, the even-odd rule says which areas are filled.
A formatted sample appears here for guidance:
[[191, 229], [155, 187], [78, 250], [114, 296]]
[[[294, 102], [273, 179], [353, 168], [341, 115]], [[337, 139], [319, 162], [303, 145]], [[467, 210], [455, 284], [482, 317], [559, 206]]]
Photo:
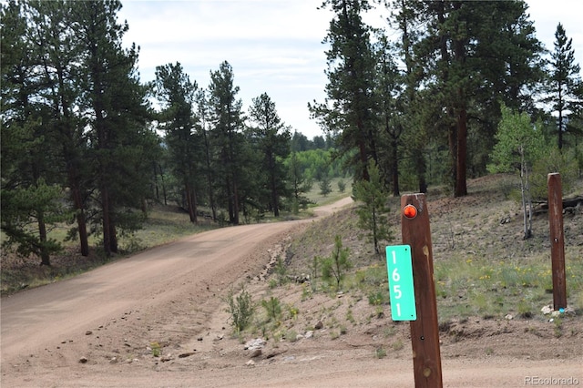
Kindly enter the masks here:
[[413, 264], [409, 245], [386, 247], [386, 269], [389, 275], [391, 317], [393, 321], [415, 321]]

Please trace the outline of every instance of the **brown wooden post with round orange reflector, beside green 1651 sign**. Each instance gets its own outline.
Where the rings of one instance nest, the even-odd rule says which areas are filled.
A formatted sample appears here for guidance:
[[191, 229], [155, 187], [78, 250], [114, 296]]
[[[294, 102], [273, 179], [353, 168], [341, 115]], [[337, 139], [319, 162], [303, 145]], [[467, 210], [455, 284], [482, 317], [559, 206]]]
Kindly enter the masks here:
[[425, 195], [404, 195], [401, 197], [401, 209], [406, 205], [413, 205], [417, 209], [414, 219], [405, 217], [403, 211], [401, 215], [403, 243], [411, 246], [417, 308], [417, 320], [410, 322], [415, 388], [439, 388], [443, 386], [439, 324], [431, 230]]

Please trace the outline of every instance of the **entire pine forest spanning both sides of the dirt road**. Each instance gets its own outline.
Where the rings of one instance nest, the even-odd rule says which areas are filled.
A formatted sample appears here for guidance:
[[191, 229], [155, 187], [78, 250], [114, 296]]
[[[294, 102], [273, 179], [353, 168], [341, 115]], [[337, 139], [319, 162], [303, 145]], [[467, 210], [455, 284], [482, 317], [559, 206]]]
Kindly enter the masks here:
[[[583, 84], [562, 25], [547, 49], [522, 1], [378, 3], [323, 2], [327, 97], [309, 108], [326, 135], [309, 140], [265, 93], [244, 108], [228, 61], [207, 87], [180, 63], [143, 83], [118, 0], [3, 2], [3, 243], [50, 265], [49, 230], [69, 222], [81, 254], [95, 234], [110, 256], [152, 203], [239, 224], [306, 206], [314, 180], [369, 180], [371, 163], [394, 196], [464, 196], [487, 173], [501, 107], [538, 122], [547, 154], [580, 174]], [[363, 23], [373, 6], [391, 11], [384, 30]]]

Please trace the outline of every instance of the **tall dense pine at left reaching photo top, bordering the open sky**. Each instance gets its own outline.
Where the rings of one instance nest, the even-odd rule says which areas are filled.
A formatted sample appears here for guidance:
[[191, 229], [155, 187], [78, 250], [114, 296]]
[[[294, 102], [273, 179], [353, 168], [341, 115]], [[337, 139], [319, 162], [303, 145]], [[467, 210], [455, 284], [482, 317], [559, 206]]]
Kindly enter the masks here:
[[[118, 0], [74, 2], [75, 33], [82, 45], [81, 74], [85, 94], [80, 108], [88, 119], [92, 173], [97, 179], [103, 231], [103, 249], [107, 256], [118, 252], [118, 228], [135, 229], [131, 213], [143, 195], [136, 162], [148, 159], [148, 150], [140, 152], [140, 132], [148, 118], [146, 88], [139, 85], [138, 48], [122, 47], [128, 24], [118, 24], [121, 9]], [[132, 184], [130, 184], [132, 183]]]

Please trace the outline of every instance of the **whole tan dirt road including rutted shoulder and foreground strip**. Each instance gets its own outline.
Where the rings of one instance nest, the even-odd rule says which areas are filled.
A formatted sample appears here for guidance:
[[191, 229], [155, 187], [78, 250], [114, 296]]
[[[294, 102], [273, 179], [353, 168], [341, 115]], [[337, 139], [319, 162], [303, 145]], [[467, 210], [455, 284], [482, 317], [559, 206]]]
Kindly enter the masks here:
[[[211, 230], [3, 298], [2, 387], [413, 386], [406, 355], [376, 359], [358, 346], [306, 341], [252, 366], [216, 346], [230, 329], [220, 312], [225, 290], [256, 277], [272, 247], [306, 222]], [[153, 342], [164, 349], [158, 359]], [[445, 386], [524, 386], [529, 376], [583, 385], [577, 356], [443, 363]]]

